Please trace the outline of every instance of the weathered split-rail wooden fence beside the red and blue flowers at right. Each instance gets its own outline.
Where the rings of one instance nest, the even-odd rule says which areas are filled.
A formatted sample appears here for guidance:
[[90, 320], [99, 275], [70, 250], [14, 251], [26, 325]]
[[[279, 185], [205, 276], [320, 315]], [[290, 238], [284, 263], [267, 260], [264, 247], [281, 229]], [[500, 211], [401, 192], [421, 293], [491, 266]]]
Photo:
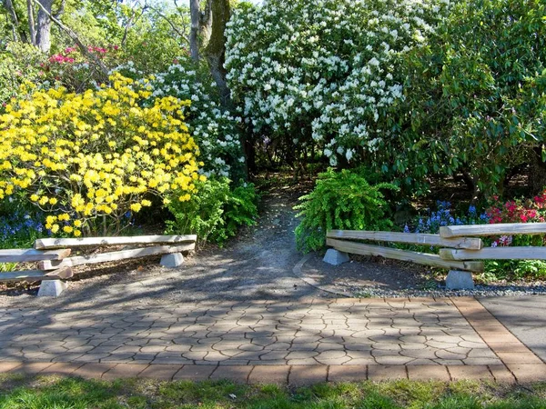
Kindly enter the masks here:
[[[472, 224], [440, 227], [440, 234], [330, 230], [327, 244], [340, 252], [379, 255], [450, 270], [480, 273], [483, 260], [546, 260], [546, 247], [484, 247], [480, 237], [546, 234], [546, 223]], [[355, 242], [358, 240], [358, 242]], [[440, 254], [427, 254], [359, 241], [418, 244], [441, 247]]]

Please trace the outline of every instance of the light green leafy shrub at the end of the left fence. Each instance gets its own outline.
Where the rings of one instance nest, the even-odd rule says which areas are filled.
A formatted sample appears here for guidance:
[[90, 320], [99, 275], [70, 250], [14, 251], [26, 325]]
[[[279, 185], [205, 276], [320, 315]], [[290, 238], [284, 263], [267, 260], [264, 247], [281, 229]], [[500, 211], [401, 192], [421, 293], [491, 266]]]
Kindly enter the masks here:
[[226, 177], [196, 182], [197, 195], [187, 202], [173, 198], [167, 205], [174, 220], [166, 234], [197, 234], [197, 240], [223, 244], [242, 225], [256, 224], [258, 193], [252, 184], [232, 188]]

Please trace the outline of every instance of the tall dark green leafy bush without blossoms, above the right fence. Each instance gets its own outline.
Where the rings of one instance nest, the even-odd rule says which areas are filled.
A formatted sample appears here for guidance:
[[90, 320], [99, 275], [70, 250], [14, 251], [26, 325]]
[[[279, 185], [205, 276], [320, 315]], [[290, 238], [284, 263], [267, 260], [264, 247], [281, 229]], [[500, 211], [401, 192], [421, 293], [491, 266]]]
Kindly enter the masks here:
[[531, 164], [531, 172], [542, 169], [530, 180], [541, 188], [545, 22], [541, 0], [455, 2], [430, 45], [405, 55], [407, 122], [379, 152], [416, 180], [462, 173], [486, 195], [501, 193], [513, 170]]

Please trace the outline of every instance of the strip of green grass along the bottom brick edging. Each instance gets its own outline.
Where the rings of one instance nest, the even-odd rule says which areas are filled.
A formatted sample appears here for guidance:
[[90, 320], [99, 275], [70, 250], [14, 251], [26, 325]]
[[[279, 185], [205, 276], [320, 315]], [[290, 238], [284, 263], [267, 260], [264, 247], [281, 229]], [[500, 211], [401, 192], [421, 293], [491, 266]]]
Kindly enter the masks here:
[[229, 382], [86, 381], [0, 375], [0, 409], [84, 408], [546, 408], [546, 383], [461, 381], [317, 384], [288, 389]]

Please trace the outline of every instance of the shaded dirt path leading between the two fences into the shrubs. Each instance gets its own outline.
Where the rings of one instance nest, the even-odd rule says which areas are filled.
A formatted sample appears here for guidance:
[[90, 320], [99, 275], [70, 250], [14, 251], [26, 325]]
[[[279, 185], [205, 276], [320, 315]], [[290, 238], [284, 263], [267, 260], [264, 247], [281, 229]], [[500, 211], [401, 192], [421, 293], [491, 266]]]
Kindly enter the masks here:
[[56, 299], [38, 299], [35, 291], [0, 294], [0, 305], [59, 307], [62, 304], [163, 304], [204, 300], [282, 300], [329, 297], [292, 274], [301, 259], [294, 229], [300, 193], [278, 187], [263, 197], [264, 209], [256, 227], [248, 229], [226, 248], [208, 248], [177, 269], [131, 262], [116, 269], [94, 269], [73, 281]]

